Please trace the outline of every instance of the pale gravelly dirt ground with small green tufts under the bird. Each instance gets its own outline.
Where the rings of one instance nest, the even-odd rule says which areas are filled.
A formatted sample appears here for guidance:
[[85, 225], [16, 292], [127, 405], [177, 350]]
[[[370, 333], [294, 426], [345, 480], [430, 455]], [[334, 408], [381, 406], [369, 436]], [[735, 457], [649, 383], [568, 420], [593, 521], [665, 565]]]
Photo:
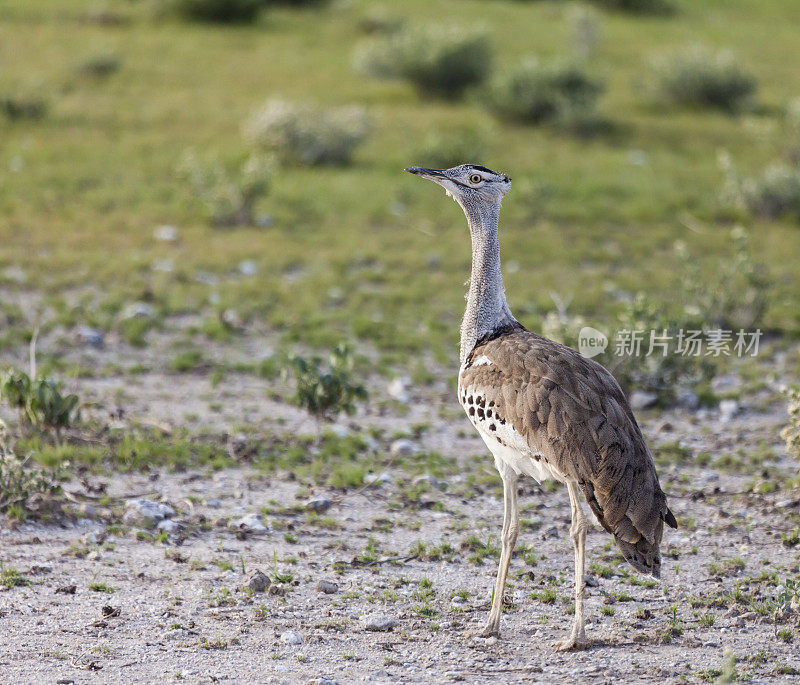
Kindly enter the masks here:
[[[125, 403], [142, 420], [180, 424], [200, 413], [220, 428], [308, 427], [296, 409], [265, 400], [257, 379], [213, 388], [202, 376], [154, 372], [78, 382], [98, 406]], [[407, 476], [392, 470], [346, 493], [311, 493], [250, 467], [67, 483], [84, 502], [77, 520], [0, 533], [5, 566], [30, 581], [0, 592], [3, 682], [800, 680], [797, 614], [774, 611], [786, 579], [798, 578], [800, 550], [782, 537], [800, 511], [796, 486], [787, 485], [797, 465], [778, 437], [782, 405], [753, 395], [729, 420], [718, 409], [641, 413], [651, 445], [690, 455], [659, 466], [681, 527], [665, 533], [661, 581], [642, 584], [594, 525], [586, 607], [593, 643], [560, 653], [552, 644], [572, 620], [566, 492], [521, 482], [525, 523], [502, 635], [470, 637], [488, 613], [502, 505], [499, 489], [470, 485], [470, 474], [493, 482], [494, 467], [451, 411], [455, 398], [444, 385], [426, 392], [403, 416], [367, 408], [338, 427], [398, 433], [431, 424], [417, 447], [460, 469], [446, 483], [418, 478], [424, 494], [413, 506], [398, 506]], [[210, 398], [222, 409], [210, 412]], [[745, 457], [696, 459], [757, 446], [773, 453], [769, 473]], [[780, 487], [758, 487], [775, 479]], [[771, 491], [754, 494], [754, 484]], [[102, 486], [110, 499], [91, 495]], [[309, 514], [308, 500], [325, 497], [320, 513]], [[131, 513], [127, 502], [136, 499], [171, 507], [160, 536], [155, 520]]]

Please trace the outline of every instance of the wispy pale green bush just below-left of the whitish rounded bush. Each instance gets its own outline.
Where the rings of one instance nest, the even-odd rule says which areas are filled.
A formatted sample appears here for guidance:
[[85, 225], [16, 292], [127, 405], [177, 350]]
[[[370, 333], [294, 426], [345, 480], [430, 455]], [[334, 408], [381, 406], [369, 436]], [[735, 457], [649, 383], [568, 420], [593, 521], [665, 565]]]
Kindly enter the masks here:
[[215, 226], [251, 225], [257, 203], [269, 193], [273, 170], [273, 161], [262, 155], [232, 164], [219, 160], [202, 164], [192, 153], [184, 156], [179, 168]]

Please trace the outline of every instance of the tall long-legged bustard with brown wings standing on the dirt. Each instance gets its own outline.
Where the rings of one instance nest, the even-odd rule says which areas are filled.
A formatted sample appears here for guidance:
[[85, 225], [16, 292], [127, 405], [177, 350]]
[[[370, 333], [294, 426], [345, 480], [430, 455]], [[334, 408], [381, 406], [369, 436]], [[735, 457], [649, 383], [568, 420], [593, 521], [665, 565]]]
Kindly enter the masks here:
[[653, 456], [614, 376], [593, 359], [525, 328], [506, 301], [500, 268], [500, 205], [511, 180], [477, 164], [405, 171], [445, 189], [463, 210], [472, 270], [461, 323], [458, 400], [494, 457], [503, 483], [497, 579], [480, 637], [499, 637], [503, 593], [519, 532], [520, 476], [566, 484], [575, 553], [575, 616], [558, 650], [590, 645], [584, 621], [589, 520], [599, 524], [637, 571], [661, 574], [664, 523], [677, 528]]

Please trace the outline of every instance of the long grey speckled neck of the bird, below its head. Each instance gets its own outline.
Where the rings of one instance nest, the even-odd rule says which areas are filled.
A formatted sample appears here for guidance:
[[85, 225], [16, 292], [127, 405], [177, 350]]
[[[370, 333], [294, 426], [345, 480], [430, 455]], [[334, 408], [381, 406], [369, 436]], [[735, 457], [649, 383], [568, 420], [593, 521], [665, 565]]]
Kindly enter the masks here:
[[482, 336], [516, 319], [508, 308], [500, 272], [500, 204], [462, 205], [462, 208], [472, 237], [472, 275], [461, 322], [463, 364]]

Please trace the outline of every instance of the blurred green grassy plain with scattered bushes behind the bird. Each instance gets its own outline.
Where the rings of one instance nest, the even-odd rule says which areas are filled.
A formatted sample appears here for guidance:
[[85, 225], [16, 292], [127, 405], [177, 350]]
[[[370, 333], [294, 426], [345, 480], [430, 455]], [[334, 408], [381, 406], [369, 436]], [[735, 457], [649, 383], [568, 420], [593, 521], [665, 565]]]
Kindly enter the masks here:
[[[48, 333], [146, 350], [172, 331], [202, 369], [209, 341], [256, 332], [269, 345], [248, 354], [267, 366], [344, 342], [370, 372], [449, 374], [468, 233], [402, 169], [464, 161], [512, 177], [506, 286], [534, 330], [791, 340], [795, 10], [7, 0], [0, 349], [24, 356], [38, 328], [58, 367]], [[662, 368], [617, 373], [629, 390], [666, 385]]]

